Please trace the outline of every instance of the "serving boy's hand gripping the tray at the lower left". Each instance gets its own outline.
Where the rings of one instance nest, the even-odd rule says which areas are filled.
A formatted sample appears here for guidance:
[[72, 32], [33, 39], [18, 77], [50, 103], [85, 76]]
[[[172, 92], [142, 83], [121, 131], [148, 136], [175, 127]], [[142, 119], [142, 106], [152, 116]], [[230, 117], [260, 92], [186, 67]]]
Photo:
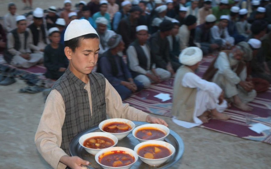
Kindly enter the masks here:
[[77, 156], [70, 157], [68, 155], [62, 156], [59, 161], [72, 169], [85, 169], [86, 167], [83, 167], [82, 165], [89, 164], [89, 161], [85, 161], [80, 157]]

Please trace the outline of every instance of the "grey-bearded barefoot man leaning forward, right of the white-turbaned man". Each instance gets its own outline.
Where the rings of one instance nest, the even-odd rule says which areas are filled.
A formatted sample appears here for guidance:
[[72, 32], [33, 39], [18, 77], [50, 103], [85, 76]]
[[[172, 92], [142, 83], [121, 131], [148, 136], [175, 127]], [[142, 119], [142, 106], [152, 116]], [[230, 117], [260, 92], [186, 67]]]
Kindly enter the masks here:
[[252, 107], [246, 103], [254, 100], [257, 93], [253, 89], [253, 83], [246, 81], [247, 69], [242, 61], [243, 56], [244, 51], [240, 46], [220, 52], [203, 77], [218, 84], [235, 107], [251, 111]]

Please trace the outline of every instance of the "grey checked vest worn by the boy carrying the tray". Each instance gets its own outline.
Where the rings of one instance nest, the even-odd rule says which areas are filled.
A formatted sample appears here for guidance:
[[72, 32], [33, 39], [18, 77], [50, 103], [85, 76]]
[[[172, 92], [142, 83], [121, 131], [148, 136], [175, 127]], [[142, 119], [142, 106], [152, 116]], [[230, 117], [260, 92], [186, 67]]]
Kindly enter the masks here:
[[62, 126], [61, 147], [70, 155], [70, 141], [83, 130], [98, 125], [106, 119], [105, 77], [100, 73], [89, 75], [92, 116], [88, 93], [84, 89], [86, 83], [78, 79], [68, 68], [55, 82], [51, 90], [56, 89], [62, 96], [66, 115]]

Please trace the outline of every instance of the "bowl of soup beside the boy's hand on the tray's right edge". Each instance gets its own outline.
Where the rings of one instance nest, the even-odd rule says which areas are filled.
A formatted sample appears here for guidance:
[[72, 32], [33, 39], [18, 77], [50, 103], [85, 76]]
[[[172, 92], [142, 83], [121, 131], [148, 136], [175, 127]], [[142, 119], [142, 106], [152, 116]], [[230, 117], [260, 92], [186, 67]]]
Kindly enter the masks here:
[[140, 142], [149, 140], [163, 141], [169, 135], [169, 128], [162, 124], [144, 124], [133, 130], [133, 136]]

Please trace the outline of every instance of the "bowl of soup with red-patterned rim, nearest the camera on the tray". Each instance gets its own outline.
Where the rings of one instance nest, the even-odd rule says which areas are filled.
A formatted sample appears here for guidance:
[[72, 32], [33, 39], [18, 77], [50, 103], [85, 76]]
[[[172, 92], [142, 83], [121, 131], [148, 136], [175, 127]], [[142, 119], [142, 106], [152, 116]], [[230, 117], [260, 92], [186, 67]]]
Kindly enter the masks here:
[[109, 147], [95, 155], [95, 161], [104, 169], [128, 169], [137, 160], [137, 153], [126, 147]]

